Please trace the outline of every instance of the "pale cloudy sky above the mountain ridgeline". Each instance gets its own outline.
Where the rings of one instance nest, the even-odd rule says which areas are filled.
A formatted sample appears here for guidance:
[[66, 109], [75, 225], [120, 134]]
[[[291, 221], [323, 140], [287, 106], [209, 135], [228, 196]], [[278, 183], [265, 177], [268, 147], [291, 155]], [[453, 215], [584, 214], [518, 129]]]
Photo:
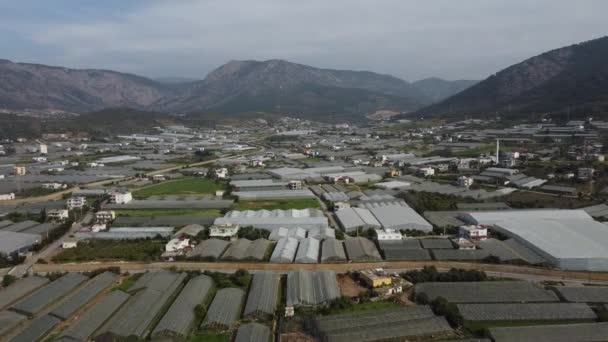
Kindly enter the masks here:
[[203, 78], [281, 58], [481, 79], [608, 34], [606, 0], [0, 0], [0, 58]]

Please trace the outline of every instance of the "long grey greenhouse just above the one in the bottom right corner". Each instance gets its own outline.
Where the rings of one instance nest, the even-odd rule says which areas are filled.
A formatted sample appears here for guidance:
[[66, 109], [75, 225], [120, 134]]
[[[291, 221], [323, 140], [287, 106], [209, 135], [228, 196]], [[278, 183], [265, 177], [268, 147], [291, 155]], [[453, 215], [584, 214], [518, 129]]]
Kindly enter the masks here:
[[597, 316], [581, 303], [456, 304], [467, 322], [593, 321]]

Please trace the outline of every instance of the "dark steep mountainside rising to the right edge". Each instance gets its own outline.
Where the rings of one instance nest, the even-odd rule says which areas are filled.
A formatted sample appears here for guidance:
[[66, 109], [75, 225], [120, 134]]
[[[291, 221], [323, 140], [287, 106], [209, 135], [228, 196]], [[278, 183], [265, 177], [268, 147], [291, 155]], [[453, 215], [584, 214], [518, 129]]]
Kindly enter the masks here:
[[608, 113], [608, 37], [510, 66], [416, 115], [525, 118]]

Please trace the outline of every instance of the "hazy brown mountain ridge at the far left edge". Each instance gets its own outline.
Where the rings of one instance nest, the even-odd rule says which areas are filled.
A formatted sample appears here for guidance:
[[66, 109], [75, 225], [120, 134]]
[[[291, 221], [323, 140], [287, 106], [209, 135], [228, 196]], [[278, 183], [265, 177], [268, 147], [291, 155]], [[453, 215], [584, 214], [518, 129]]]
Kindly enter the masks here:
[[0, 60], [0, 107], [92, 111], [143, 108], [171, 89], [144, 77]]

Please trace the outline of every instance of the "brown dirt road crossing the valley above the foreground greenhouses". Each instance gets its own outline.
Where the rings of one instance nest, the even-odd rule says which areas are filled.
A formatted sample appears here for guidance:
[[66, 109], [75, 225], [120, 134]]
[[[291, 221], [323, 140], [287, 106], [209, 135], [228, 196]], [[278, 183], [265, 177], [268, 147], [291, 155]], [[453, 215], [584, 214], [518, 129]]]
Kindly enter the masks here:
[[276, 264], [255, 262], [90, 262], [71, 264], [35, 264], [34, 272], [86, 272], [104, 267], [120, 267], [123, 272], [141, 272], [148, 270], [167, 269], [175, 267], [180, 270], [237, 270], [249, 271], [271, 270], [287, 272], [298, 269], [305, 270], [332, 270], [336, 272], [355, 271], [369, 268], [385, 268], [388, 270], [417, 269], [423, 266], [435, 266], [438, 269], [462, 268], [479, 270], [492, 273], [506, 273], [546, 277], [555, 280], [581, 280], [581, 281], [606, 281], [608, 273], [598, 272], [575, 272], [544, 269], [536, 267], [476, 264], [466, 262], [447, 261], [382, 261], [370, 263], [341, 263], [341, 264]]

